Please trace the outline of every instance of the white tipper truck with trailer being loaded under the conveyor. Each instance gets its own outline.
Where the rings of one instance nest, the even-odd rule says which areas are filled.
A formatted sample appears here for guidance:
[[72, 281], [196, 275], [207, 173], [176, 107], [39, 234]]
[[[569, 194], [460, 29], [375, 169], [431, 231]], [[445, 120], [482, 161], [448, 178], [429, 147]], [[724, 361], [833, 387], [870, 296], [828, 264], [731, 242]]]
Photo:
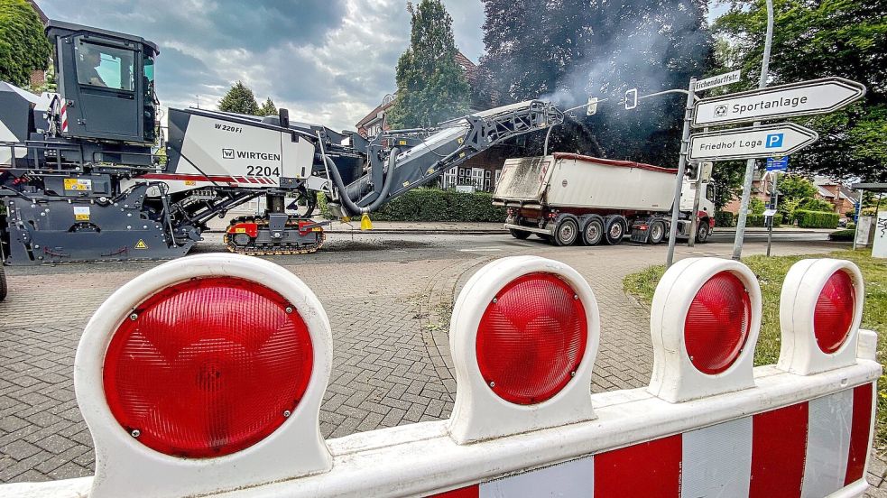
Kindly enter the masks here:
[[[505, 227], [519, 239], [537, 234], [557, 245], [659, 244], [668, 237], [677, 170], [633, 161], [613, 161], [555, 152], [509, 159], [493, 194], [508, 210]], [[685, 178], [678, 234], [688, 237], [697, 184], [697, 241], [715, 227], [714, 189], [707, 181]]]

